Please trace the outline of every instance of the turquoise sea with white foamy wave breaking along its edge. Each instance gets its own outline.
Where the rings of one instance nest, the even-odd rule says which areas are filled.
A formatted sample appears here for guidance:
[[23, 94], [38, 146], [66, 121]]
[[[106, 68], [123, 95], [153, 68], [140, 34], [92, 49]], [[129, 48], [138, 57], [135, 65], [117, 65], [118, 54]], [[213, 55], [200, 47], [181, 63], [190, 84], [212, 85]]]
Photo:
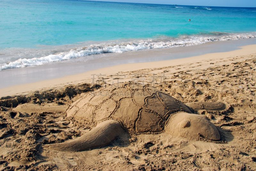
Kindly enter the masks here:
[[256, 8], [77, 0], [0, 4], [0, 70], [256, 37]]

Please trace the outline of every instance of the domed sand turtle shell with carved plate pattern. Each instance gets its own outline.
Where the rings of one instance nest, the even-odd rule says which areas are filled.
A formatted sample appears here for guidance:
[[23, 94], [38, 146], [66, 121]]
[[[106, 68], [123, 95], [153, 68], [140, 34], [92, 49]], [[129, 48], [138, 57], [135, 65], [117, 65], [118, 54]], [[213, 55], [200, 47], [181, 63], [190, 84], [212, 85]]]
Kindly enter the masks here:
[[162, 131], [168, 117], [179, 111], [191, 113], [179, 100], [155, 88], [119, 84], [84, 95], [68, 108], [67, 116], [80, 121], [119, 120], [140, 133]]

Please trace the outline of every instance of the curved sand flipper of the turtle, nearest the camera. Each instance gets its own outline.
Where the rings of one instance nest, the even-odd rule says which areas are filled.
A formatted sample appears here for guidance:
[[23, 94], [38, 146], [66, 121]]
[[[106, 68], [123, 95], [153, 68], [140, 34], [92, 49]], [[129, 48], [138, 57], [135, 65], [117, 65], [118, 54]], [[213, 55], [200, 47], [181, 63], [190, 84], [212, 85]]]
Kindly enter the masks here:
[[124, 129], [116, 120], [106, 120], [99, 123], [83, 136], [64, 143], [52, 144], [47, 148], [52, 151], [84, 151], [100, 146], [106, 146], [113, 142], [118, 136], [124, 134]]

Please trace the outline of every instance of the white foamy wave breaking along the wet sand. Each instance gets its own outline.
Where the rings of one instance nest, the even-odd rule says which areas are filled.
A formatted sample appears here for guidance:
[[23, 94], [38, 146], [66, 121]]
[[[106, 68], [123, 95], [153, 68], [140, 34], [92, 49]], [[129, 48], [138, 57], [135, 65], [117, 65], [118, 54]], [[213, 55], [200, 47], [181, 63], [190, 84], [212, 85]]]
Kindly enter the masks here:
[[244, 38], [256, 37], [256, 32], [253, 33], [243, 33], [243, 34], [234, 34], [234, 33], [222, 33], [222, 32], [213, 32], [207, 35], [190, 35], [190, 36], [181, 36], [180, 38], [171, 38], [171, 37], [160, 37], [157, 39], [151, 40], [140, 40], [127, 43], [119, 44], [93, 44], [88, 47], [80, 47], [72, 49], [66, 52], [60, 52], [51, 54], [48, 56], [43, 56], [40, 58], [20, 58], [8, 64], [1, 64], [0, 71], [8, 68], [22, 68], [28, 66], [37, 66], [43, 65], [48, 62], [56, 62], [62, 60], [68, 60], [72, 58], [84, 57], [92, 54], [101, 54], [101, 53], [122, 53], [126, 51], [138, 51], [142, 49], [152, 49], [152, 48], [172, 48], [180, 46], [192, 46], [197, 44], [203, 44], [207, 42], [214, 41], [225, 41], [225, 40], [237, 40]]

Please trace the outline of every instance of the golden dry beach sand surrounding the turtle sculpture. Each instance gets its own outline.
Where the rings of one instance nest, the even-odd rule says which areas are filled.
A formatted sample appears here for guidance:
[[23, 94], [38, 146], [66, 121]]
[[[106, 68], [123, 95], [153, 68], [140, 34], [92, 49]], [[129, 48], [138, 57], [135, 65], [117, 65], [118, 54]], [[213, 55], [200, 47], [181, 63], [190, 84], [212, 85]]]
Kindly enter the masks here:
[[[255, 170], [255, 63], [256, 45], [248, 45], [231, 52], [126, 64], [1, 89], [0, 169]], [[106, 76], [91, 87], [91, 74], [99, 73]], [[49, 144], [79, 141], [98, 129], [100, 121], [68, 117], [66, 110], [81, 97], [117, 81], [154, 86], [193, 107], [194, 113], [217, 127], [220, 141], [174, 136], [175, 127], [170, 125], [169, 130], [160, 132], [124, 131], [108, 146], [82, 152], [47, 148]], [[104, 106], [99, 107], [102, 109]]]

